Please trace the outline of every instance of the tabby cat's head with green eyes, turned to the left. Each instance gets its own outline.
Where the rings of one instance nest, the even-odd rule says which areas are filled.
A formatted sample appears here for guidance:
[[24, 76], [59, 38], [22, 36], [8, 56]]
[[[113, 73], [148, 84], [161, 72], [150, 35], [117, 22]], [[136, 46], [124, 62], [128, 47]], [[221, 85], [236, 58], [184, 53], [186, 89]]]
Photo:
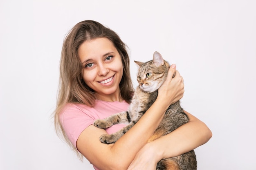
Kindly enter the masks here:
[[139, 66], [137, 81], [141, 90], [153, 92], [164, 83], [170, 66], [160, 53], [156, 51], [148, 62], [134, 62]]

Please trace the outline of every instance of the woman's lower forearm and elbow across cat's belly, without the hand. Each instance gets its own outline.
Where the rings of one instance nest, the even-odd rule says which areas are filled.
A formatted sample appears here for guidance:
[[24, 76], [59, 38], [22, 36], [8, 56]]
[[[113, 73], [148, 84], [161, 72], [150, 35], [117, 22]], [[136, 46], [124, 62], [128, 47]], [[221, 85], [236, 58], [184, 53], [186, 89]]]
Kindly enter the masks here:
[[[158, 146], [157, 149], [163, 151], [162, 158], [176, 157], [189, 152], [205, 144], [212, 137], [211, 130], [206, 124], [190, 113], [184, 112], [189, 116], [190, 121], [180, 128], [177, 128], [169, 135], [166, 135], [166, 137], [160, 138], [159, 141], [156, 141], [156, 144], [153, 144]], [[159, 143], [161, 143], [162, 146], [160, 146]], [[159, 160], [161, 157], [159, 157]]]

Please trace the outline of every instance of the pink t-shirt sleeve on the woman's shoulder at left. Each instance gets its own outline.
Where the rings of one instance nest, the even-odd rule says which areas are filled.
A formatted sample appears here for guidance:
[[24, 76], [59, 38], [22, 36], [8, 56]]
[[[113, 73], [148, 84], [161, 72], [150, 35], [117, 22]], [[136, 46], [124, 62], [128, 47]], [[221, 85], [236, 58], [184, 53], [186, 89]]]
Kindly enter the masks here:
[[93, 124], [95, 118], [86, 114], [79, 106], [68, 104], [60, 115], [62, 127], [71, 143], [76, 148], [76, 141], [88, 126]]

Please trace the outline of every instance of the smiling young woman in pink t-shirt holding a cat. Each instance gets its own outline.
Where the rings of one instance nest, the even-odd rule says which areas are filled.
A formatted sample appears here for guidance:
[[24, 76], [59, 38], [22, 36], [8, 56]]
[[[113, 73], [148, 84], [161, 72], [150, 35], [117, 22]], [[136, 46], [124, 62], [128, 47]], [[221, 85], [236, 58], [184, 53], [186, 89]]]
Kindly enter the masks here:
[[155, 103], [135, 126], [115, 144], [102, 144], [102, 134], [126, 126], [104, 130], [93, 122], [127, 110], [133, 93], [129, 63], [124, 42], [99, 22], [79, 22], [63, 43], [56, 129], [96, 170], [155, 170], [162, 158], [181, 155], [211, 138], [209, 128], [186, 112], [190, 119], [187, 124], [147, 143], [165, 110], [184, 93], [183, 79], [173, 64]]

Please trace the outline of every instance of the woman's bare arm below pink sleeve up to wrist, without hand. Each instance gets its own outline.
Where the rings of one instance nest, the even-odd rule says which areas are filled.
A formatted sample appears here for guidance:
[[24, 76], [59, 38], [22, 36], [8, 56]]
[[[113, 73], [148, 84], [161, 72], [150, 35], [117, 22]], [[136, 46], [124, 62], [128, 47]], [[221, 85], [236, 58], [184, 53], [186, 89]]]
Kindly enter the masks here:
[[[161, 121], [165, 111], [157, 105], [124, 134], [115, 144], [102, 144], [99, 137], [104, 129], [88, 126], [76, 141], [76, 146], [86, 159], [100, 170], [127, 170], [137, 152], [146, 144]], [[156, 114], [153, 115], [153, 112]], [[143, 135], [141, 135], [143, 134]]]

